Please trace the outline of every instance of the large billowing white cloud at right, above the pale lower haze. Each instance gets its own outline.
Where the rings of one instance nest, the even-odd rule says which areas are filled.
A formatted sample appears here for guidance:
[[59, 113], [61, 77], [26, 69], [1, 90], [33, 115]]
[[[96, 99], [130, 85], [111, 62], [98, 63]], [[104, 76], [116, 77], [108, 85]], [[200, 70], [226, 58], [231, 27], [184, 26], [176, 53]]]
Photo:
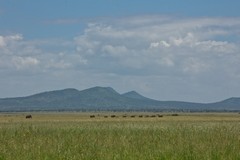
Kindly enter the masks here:
[[[91, 23], [75, 40], [83, 57], [93, 55], [96, 66], [110, 59], [110, 65], [122, 73], [144, 68], [159, 74], [175, 67], [179, 74], [202, 74], [217, 67], [217, 62], [201, 62], [208, 62], [209, 58], [217, 61], [215, 55], [239, 50], [236, 42], [228, 41], [236, 26], [240, 26], [238, 18], [128, 17]], [[218, 36], [225, 39], [218, 40]]]

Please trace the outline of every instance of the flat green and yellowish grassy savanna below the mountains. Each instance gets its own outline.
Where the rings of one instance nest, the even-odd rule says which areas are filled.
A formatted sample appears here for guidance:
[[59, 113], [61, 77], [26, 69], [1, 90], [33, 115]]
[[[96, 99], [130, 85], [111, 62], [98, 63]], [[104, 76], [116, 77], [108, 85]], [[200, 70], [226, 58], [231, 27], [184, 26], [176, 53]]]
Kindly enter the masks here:
[[238, 113], [26, 114], [0, 114], [0, 160], [240, 159]]

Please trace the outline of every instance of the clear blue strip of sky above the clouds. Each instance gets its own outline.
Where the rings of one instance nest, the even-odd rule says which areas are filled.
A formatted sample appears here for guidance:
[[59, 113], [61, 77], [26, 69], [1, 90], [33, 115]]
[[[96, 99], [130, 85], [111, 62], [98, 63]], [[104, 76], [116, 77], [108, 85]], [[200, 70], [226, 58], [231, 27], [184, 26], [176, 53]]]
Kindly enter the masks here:
[[240, 14], [237, 0], [1, 0], [0, 4], [2, 32], [21, 32], [29, 38], [71, 38], [81, 33], [86, 23], [98, 18], [146, 14], [231, 17]]

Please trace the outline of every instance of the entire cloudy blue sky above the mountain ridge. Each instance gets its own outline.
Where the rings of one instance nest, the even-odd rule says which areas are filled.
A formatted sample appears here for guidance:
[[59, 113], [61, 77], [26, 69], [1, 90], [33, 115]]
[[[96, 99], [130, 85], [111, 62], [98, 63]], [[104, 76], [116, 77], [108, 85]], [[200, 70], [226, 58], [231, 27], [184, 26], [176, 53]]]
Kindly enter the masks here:
[[239, 0], [0, 0], [0, 97], [95, 86], [240, 97]]

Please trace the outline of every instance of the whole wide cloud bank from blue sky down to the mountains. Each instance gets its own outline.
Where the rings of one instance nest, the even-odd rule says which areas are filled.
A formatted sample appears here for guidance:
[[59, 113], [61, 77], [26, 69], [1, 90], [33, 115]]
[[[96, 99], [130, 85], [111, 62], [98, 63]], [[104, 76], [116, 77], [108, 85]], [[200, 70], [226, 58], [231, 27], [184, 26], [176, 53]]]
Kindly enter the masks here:
[[154, 15], [95, 21], [71, 40], [2, 35], [0, 70], [55, 75], [73, 87], [131, 88], [162, 100], [214, 101], [240, 96], [239, 28], [240, 18]]

